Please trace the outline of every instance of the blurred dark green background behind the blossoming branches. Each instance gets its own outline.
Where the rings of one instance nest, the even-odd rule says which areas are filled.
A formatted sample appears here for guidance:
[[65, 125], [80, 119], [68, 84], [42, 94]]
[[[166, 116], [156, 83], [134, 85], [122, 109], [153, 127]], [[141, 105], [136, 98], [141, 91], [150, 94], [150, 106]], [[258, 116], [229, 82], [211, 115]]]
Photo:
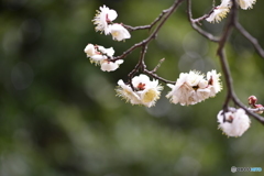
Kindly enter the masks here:
[[[117, 56], [148, 34], [135, 31], [123, 43], [96, 33], [91, 20], [100, 6], [118, 11], [116, 22], [135, 26], [151, 23], [172, 3], [0, 1], [0, 176], [222, 176], [231, 175], [231, 166], [264, 169], [262, 124], [253, 119], [242, 138], [218, 130], [224, 82], [216, 98], [195, 106], [170, 105], [167, 87], [155, 107], [131, 106], [116, 97], [114, 88], [119, 79], [127, 80], [140, 51], [113, 73], [101, 72], [86, 57], [88, 43], [113, 46]], [[194, 1], [194, 18], [211, 4]], [[258, 0], [254, 9], [239, 10], [240, 22], [262, 46], [263, 6]], [[202, 28], [220, 34], [224, 21], [202, 22]], [[184, 2], [150, 44], [147, 68], [165, 57], [157, 74], [170, 80], [190, 69], [221, 72], [216, 48], [191, 30]], [[227, 55], [239, 98], [246, 103], [255, 95], [264, 103], [264, 59], [237, 31]]]

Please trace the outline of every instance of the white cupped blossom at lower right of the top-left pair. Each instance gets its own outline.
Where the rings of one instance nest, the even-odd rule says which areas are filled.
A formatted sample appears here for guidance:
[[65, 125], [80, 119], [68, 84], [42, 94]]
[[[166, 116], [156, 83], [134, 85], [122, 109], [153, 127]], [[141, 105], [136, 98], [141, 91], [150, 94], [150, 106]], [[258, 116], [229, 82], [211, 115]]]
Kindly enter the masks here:
[[109, 25], [109, 31], [112, 34], [112, 38], [114, 41], [123, 41], [131, 37], [129, 31], [123, 28], [122, 24], [114, 23], [112, 25]]

